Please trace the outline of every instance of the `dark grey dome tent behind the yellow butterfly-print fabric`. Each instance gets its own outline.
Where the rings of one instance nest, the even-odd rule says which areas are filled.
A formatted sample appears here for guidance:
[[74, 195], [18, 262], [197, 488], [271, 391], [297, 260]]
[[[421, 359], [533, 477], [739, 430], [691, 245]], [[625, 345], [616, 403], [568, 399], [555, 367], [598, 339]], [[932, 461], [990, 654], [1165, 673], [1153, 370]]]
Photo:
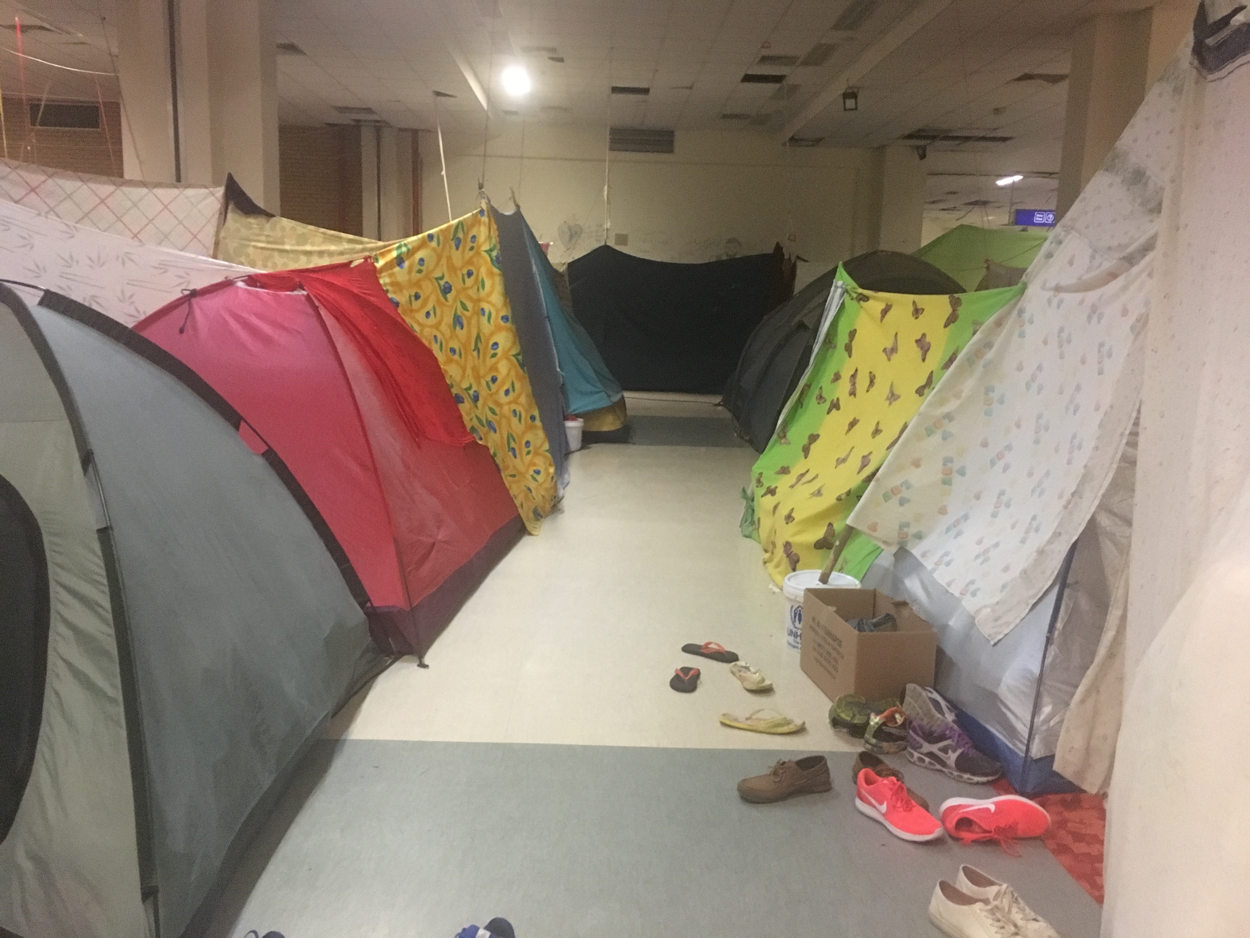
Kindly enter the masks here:
[[[845, 261], [851, 279], [865, 290], [936, 295], [964, 293], [959, 283], [932, 264], [899, 251], [869, 251]], [[721, 404], [738, 434], [756, 453], [772, 438], [781, 408], [811, 358], [825, 299], [838, 268], [829, 270], [772, 310], [751, 333], [738, 368], [725, 385]]]

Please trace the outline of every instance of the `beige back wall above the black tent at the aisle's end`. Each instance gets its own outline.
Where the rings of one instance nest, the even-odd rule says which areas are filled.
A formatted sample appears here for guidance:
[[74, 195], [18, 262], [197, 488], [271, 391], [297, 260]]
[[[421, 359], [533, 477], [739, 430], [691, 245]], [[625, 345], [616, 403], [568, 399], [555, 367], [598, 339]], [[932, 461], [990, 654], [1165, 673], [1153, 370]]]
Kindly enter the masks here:
[[[551, 259], [571, 260], [604, 243], [602, 130], [526, 126], [490, 141], [486, 193], [511, 208], [511, 193]], [[444, 138], [451, 210], [472, 209], [482, 171], [481, 138]], [[438, 143], [426, 135], [422, 229], [444, 224], [446, 203]], [[705, 261], [772, 249], [781, 241], [810, 263], [799, 284], [859, 251], [880, 233], [880, 168], [868, 150], [792, 149], [749, 134], [679, 131], [676, 153], [611, 154], [609, 241], [622, 250], [671, 261]], [[566, 225], [566, 226], [565, 226]], [[561, 226], [565, 238], [561, 239]], [[570, 229], [581, 235], [570, 239]], [[792, 231], [794, 241], [788, 240]], [[918, 233], [919, 234], [919, 233]], [[735, 241], [738, 244], [734, 244]]]

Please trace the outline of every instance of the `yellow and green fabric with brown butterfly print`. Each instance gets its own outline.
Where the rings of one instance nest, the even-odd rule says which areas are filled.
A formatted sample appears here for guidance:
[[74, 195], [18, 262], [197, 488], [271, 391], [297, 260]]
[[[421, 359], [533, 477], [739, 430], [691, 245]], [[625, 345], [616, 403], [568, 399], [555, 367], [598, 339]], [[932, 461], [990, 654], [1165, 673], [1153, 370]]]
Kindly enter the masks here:
[[844, 270], [839, 278], [848, 293], [832, 328], [752, 470], [764, 563], [778, 583], [825, 565], [868, 479], [921, 401], [976, 330], [1020, 293], [916, 296], [861, 290]]

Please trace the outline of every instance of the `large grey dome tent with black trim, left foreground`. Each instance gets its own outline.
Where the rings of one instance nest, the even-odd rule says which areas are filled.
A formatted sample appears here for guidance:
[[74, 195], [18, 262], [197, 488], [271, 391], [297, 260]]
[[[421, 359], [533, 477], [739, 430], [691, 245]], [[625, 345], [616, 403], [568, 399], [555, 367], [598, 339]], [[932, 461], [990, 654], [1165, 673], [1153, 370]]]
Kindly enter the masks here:
[[364, 590], [276, 455], [142, 336], [0, 286], [0, 932], [195, 933], [381, 663]]

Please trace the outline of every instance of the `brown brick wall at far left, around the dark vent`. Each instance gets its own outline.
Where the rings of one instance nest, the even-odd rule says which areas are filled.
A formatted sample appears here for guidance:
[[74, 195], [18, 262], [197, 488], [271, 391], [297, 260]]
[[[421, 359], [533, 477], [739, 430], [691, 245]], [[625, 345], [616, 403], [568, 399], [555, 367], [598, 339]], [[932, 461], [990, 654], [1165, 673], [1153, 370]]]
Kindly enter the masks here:
[[[30, 99], [30, 103], [38, 104], [38, 99]], [[99, 130], [70, 130], [31, 128], [21, 98], [4, 96], [0, 154], [8, 159], [98, 176], [120, 176], [121, 146], [121, 109], [116, 101], [104, 103], [104, 120]]]

